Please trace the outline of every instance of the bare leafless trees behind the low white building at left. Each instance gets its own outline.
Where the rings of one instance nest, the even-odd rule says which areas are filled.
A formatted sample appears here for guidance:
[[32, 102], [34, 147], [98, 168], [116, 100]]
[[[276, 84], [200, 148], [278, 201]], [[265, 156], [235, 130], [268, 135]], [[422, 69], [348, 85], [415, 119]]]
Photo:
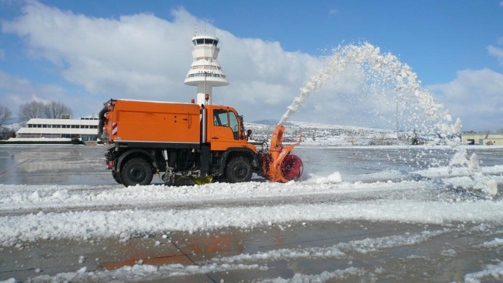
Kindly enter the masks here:
[[[42, 102], [30, 101], [19, 106], [18, 116], [20, 122], [27, 122], [32, 118], [59, 119], [62, 114], [70, 114], [70, 107], [60, 101]], [[15, 136], [15, 133], [6, 127], [12, 119], [12, 111], [0, 104], [0, 139]]]

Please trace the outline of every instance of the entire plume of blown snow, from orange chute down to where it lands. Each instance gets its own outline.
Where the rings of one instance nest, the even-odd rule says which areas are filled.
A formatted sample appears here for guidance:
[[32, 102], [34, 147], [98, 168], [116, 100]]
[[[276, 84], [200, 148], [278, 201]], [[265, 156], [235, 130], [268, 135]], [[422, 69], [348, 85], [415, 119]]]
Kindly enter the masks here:
[[398, 57], [389, 52], [381, 53], [379, 47], [367, 42], [361, 45], [339, 45], [332, 49], [332, 55], [327, 56], [323, 67], [304, 82], [300, 95], [294, 98], [278, 124], [284, 125], [304, 101], [321, 89], [331, 76], [344, 74], [350, 67], [362, 70], [369, 87], [394, 89], [404, 99], [410, 100], [414, 108], [420, 107], [422, 126], [439, 133], [441, 140], [456, 152], [449, 166], [468, 166], [473, 173], [472, 179], [479, 184], [479, 189], [489, 195], [497, 192], [494, 180], [484, 177], [480, 172], [476, 155], [473, 154], [468, 160], [466, 151], [461, 149], [461, 120], [458, 118], [453, 123], [449, 111], [444, 110], [443, 105], [436, 103], [432, 94], [421, 87], [421, 81], [417, 80], [417, 74], [412, 72], [409, 65], [400, 62]]

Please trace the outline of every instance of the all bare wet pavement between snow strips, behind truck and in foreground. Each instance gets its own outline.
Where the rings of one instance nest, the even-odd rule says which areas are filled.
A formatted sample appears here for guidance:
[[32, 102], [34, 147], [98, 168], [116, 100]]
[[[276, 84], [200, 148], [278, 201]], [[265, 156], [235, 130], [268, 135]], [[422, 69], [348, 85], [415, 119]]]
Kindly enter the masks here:
[[[359, 180], [362, 174], [386, 170], [413, 172], [427, 168], [425, 164], [432, 163], [436, 163], [437, 166], [446, 165], [452, 156], [450, 150], [299, 147], [295, 151], [304, 162], [306, 177], [309, 174], [326, 176], [340, 172], [343, 180], [350, 182]], [[468, 152], [471, 154], [473, 150]], [[503, 162], [503, 150], [484, 149], [476, 153], [483, 166], [501, 165]], [[417, 156], [421, 156], [420, 162], [414, 158]], [[78, 146], [0, 147], [0, 184], [90, 185], [87, 188], [89, 190], [92, 190], [94, 185], [116, 185], [110, 171], [105, 169], [102, 148]], [[309, 199], [309, 196], [297, 197], [288, 199], [287, 202], [309, 203]], [[313, 203], [344, 201], [329, 195], [313, 199]], [[284, 200], [255, 201], [260, 202], [260, 205], [269, 205], [268, 201], [281, 203]], [[211, 205], [243, 204], [221, 201], [213, 202]], [[205, 204], [187, 203], [181, 206], [193, 208]], [[135, 209], [134, 206], [126, 208]], [[153, 208], [166, 207], [158, 205]], [[170, 207], [170, 209], [177, 208], [183, 207]], [[26, 213], [37, 213], [37, 211]], [[9, 214], [6, 212], [2, 216]], [[425, 231], [441, 232], [438, 232], [438, 235], [425, 234], [428, 235], [425, 239], [414, 236]], [[400, 242], [393, 237], [405, 237], [406, 241]], [[319, 275], [323, 271], [335, 272], [354, 267], [363, 271], [345, 275], [343, 278], [327, 277], [328, 279], [324, 281], [461, 282], [464, 281], [465, 274], [483, 270], [484, 265], [503, 260], [502, 249], [482, 247], [484, 242], [495, 238], [503, 238], [503, 226], [494, 223], [425, 225], [371, 221], [306, 221], [270, 224], [253, 229], [225, 228], [194, 233], [180, 231], [143, 233], [132, 235], [128, 241], [123, 241], [119, 237], [81, 241], [48, 239], [0, 248], [0, 280], [15, 277], [18, 281], [24, 281], [43, 274], [75, 272], [83, 266], [87, 267], [88, 272], [114, 270], [139, 263], [204, 267], [219, 262], [222, 258], [236, 255], [282, 250], [305, 251], [311, 248], [324, 249], [337, 246], [344, 252], [343, 254], [269, 256], [248, 261], [236, 259], [236, 263], [254, 263], [262, 268], [216, 270], [201, 274], [194, 272], [149, 274], [131, 276], [125, 280], [251, 282], [277, 277], [288, 279], [293, 278], [296, 273]], [[383, 239], [387, 244], [382, 244]], [[83, 256], [81, 263], [79, 263], [80, 256]], [[122, 280], [121, 277], [118, 278], [118, 281]], [[316, 278], [320, 277], [312, 277], [305, 281], [316, 281]], [[115, 278], [110, 278], [112, 279]], [[481, 281], [498, 280], [489, 276]]]

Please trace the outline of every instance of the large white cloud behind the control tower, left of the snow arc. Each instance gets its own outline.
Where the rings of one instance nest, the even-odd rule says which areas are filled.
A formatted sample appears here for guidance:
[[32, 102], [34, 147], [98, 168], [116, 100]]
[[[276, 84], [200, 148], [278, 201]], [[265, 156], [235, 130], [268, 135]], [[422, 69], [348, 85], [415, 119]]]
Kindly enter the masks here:
[[[65, 80], [103, 101], [185, 102], [196, 93], [183, 81], [197, 23], [220, 37], [219, 61], [230, 82], [213, 90], [213, 101], [232, 105], [252, 119], [279, 118], [320, 63], [308, 54], [283, 50], [279, 42], [236, 37], [183, 8], [173, 15], [172, 22], [152, 14], [104, 19], [29, 2], [23, 15], [4, 22], [2, 30], [24, 37], [31, 56], [54, 63]], [[72, 99], [87, 102], [85, 97]]]

